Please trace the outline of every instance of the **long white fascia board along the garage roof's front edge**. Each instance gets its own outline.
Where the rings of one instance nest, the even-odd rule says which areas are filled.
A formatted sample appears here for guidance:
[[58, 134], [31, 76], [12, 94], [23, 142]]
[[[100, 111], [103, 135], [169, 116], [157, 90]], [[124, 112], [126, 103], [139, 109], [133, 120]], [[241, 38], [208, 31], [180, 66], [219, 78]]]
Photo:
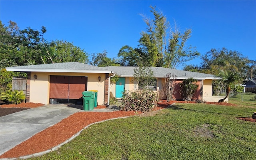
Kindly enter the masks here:
[[6, 70], [15, 71], [15, 72], [114, 73], [112, 70], [58, 70], [58, 69], [26, 69], [26, 68], [6, 68]]

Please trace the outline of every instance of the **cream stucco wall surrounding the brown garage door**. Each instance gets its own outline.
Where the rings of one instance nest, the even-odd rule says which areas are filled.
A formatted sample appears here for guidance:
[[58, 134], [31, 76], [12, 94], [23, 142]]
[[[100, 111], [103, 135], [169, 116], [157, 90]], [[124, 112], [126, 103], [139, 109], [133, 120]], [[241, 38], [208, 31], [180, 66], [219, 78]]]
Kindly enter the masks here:
[[[34, 74], [37, 79], [34, 79]], [[30, 81], [30, 102], [49, 104], [50, 75], [54, 76], [87, 76], [87, 90], [98, 90], [98, 105], [104, 105], [104, 80], [105, 74], [100, 73], [52, 73], [52, 72], [31, 72]], [[98, 76], [101, 77], [99, 82]], [[81, 93], [82, 96], [82, 93]]]

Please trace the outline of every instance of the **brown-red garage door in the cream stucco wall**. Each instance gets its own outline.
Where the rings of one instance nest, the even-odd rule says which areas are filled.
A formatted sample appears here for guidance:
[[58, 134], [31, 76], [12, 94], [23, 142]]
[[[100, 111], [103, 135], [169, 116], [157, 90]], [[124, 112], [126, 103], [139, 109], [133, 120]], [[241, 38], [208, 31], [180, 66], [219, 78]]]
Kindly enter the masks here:
[[87, 90], [87, 77], [50, 76], [50, 98], [80, 99]]

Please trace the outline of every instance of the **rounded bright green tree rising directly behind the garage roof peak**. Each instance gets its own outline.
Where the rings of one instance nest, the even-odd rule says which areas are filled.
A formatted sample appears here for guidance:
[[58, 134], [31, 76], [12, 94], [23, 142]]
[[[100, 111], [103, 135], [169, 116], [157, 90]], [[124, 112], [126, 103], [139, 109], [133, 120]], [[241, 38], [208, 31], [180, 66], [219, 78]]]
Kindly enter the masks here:
[[73, 43], [66, 40], [56, 40], [54, 44], [54, 56], [52, 58], [54, 62], [80, 62], [85, 64], [89, 62], [87, 53], [74, 46]]

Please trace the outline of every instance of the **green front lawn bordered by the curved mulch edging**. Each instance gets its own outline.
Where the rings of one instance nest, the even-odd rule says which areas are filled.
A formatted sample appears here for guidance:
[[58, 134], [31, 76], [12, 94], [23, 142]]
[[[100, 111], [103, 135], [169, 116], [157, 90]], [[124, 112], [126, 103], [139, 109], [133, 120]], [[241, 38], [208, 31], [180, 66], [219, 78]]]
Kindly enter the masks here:
[[[237, 106], [175, 104], [154, 116], [94, 124], [58, 150], [32, 160], [251, 160], [256, 101]], [[250, 95], [248, 96], [250, 97]]]

